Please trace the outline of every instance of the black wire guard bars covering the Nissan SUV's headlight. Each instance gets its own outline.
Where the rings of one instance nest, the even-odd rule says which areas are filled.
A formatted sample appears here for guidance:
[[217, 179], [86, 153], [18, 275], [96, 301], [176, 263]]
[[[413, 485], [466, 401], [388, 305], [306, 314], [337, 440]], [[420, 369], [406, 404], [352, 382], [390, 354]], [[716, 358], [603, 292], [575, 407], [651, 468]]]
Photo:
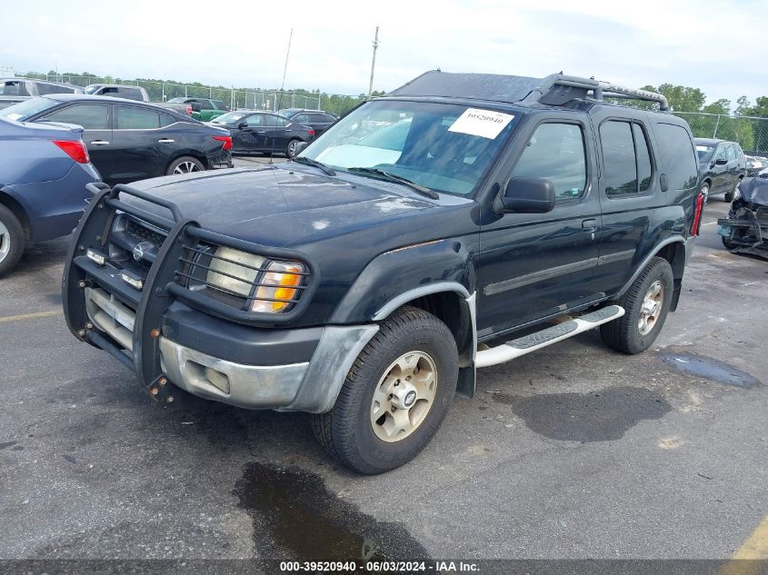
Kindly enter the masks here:
[[[200, 292], [238, 310], [250, 310], [253, 302], [283, 303], [281, 312], [289, 312], [294, 308], [307, 289], [309, 281], [310, 273], [306, 271], [304, 264], [248, 254], [255, 260], [260, 260], [258, 265], [253, 265], [243, 262], [243, 258], [238, 254], [244, 253], [211, 243], [196, 242], [185, 246], [184, 253], [179, 258], [175, 281], [188, 290]], [[270, 266], [274, 263], [284, 264], [291, 269], [281, 273], [271, 269]], [[274, 283], [275, 278], [286, 275], [298, 275], [301, 281], [297, 285], [287, 287]], [[279, 292], [281, 287], [284, 291], [291, 292], [290, 297], [274, 297], [267, 294]]]

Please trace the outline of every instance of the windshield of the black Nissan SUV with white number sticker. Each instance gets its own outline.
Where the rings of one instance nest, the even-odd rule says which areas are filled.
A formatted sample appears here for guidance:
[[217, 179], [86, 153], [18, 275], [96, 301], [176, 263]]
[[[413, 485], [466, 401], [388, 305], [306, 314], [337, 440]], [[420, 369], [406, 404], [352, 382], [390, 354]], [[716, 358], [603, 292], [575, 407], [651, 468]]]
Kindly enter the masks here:
[[468, 195], [518, 120], [458, 104], [375, 100], [344, 116], [300, 155], [337, 171], [377, 168], [438, 192]]

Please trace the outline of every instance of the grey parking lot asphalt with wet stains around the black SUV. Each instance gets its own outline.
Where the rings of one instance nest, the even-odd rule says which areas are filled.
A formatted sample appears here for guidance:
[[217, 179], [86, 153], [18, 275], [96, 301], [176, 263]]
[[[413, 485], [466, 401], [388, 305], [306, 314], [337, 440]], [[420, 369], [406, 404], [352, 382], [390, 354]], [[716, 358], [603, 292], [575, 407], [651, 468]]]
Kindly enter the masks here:
[[651, 350], [593, 331], [480, 370], [377, 477], [304, 414], [158, 408], [67, 332], [42, 244], [0, 282], [0, 558], [727, 558], [768, 514], [768, 262], [723, 249], [726, 211]]

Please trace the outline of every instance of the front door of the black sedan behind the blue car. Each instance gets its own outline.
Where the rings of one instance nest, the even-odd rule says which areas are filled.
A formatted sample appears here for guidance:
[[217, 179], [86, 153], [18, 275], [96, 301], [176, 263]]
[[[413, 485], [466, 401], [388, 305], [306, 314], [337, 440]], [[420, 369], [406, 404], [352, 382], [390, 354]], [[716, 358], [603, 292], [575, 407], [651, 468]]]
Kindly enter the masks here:
[[105, 181], [111, 179], [115, 170], [110, 107], [109, 104], [69, 104], [37, 118], [83, 126], [83, 141], [91, 163]]

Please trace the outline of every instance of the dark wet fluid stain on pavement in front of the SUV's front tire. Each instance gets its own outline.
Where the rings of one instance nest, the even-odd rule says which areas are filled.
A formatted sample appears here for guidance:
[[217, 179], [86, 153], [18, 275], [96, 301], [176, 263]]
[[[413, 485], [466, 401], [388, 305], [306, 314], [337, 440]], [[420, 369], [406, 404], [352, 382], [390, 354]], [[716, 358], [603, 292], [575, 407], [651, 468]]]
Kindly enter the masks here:
[[429, 558], [402, 525], [362, 513], [312, 473], [251, 463], [234, 492], [254, 520], [254, 544], [265, 559]]

